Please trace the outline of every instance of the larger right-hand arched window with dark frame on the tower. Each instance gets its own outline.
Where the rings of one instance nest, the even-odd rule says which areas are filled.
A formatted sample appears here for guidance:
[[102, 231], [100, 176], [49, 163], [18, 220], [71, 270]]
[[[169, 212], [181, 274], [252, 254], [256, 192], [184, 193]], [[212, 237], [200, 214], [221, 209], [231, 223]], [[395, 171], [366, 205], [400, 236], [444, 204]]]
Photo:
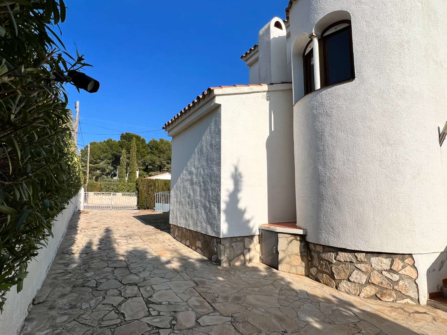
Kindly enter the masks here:
[[323, 86], [355, 78], [351, 21], [343, 20], [329, 25], [321, 33], [321, 46]]

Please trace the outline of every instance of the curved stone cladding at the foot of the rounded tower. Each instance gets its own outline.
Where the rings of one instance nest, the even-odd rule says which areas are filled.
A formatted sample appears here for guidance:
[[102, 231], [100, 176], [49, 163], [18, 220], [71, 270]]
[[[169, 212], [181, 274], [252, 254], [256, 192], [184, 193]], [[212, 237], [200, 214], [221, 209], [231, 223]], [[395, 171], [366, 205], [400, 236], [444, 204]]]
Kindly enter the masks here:
[[417, 304], [412, 255], [377, 254], [309, 243], [312, 279], [363, 298]]

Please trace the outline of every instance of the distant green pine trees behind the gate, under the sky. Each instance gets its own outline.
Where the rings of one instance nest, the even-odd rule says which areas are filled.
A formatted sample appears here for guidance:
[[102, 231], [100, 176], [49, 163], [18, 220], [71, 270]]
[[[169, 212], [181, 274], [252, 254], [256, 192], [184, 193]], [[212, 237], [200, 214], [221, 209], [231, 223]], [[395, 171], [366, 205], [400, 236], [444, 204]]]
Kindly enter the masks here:
[[[109, 138], [105, 141], [90, 143], [89, 180], [100, 181], [116, 178], [122, 152], [125, 150], [127, 157], [130, 157], [131, 142], [134, 138], [139, 176], [171, 172], [171, 141], [160, 138], [146, 142], [138, 134], [122, 133], [119, 141]], [[87, 148], [81, 150], [81, 163], [85, 181]], [[127, 171], [129, 171], [129, 163], [129, 159], [127, 159]], [[120, 167], [121, 169], [122, 167]]]

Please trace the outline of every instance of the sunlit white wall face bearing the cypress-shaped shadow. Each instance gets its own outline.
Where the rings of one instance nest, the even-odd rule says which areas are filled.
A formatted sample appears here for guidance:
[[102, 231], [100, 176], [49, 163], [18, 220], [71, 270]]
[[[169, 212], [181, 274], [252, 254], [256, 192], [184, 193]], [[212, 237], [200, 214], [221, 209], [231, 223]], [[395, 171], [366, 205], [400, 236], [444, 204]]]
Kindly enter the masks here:
[[222, 237], [258, 234], [260, 224], [296, 218], [291, 84], [264, 88], [216, 96], [222, 106]]

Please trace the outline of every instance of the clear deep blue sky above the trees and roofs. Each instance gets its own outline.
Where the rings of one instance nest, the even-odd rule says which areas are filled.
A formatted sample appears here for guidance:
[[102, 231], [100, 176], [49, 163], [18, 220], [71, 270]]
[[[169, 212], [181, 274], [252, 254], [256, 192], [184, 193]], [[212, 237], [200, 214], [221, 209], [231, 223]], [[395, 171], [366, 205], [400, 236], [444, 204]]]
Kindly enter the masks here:
[[[83, 136], [78, 135], [78, 143], [86, 145], [119, 139], [124, 131], [161, 129], [208, 87], [247, 84], [248, 67], [240, 55], [257, 43], [259, 30], [271, 18], [285, 18], [288, 1], [65, 3], [62, 40], [75, 55], [76, 43], [94, 66], [87, 73], [101, 83], [93, 94], [68, 87], [69, 107], [74, 110], [80, 101]], [[141, 135], [168, 138], [164, 130]]]

